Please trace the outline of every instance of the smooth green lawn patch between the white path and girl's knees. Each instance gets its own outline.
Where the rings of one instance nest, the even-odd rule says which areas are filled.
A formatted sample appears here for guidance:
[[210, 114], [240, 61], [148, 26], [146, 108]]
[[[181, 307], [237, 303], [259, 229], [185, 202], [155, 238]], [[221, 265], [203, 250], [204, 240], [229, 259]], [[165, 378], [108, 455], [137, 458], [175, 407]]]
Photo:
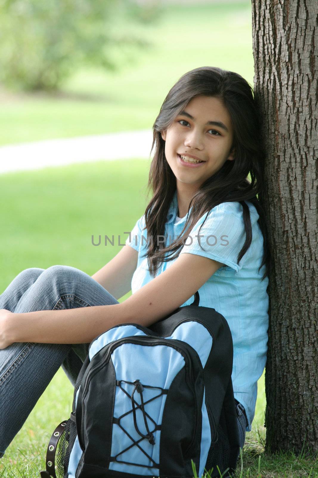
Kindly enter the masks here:
[[146, 160], [99, 161], [0, 175], [0, 290], [28, 267], [90, 275], [103, 267], [121, 247], [95, 247], [92, 235], [120, 234], [123, 244], [144, 213], [148, 168]]

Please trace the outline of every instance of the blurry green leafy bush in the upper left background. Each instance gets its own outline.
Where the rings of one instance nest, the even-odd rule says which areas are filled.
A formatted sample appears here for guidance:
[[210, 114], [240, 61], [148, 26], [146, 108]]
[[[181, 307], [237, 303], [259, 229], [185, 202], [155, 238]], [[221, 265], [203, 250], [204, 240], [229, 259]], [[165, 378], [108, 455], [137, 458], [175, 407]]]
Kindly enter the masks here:
[[156, 21], [161, 10], [156, 2], [149, 8], [133, 0], [0, 0], [0, 82], [52, 91], [79, 66], [114, 70], [110, 47], [149, 46], [132, 31], [114, 30], [114, 22]]

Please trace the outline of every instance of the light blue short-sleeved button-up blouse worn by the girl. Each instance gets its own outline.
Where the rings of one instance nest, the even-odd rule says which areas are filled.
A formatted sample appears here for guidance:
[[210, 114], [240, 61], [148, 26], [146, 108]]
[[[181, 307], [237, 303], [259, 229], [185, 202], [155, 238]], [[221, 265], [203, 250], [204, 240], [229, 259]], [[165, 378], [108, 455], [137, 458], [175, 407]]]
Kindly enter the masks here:
[[[264, 273], [258, 267], [262, 262], [263, 236], [257, 223], [256, 207], [246, 202], [251, 217], [252, 243], [237, 263], [237, 255], [245, 242], [243, 208], [239, 202], [225, 202], [205, 213], [191, 230], [180, 254], [190, 253], [214, 259], [226, 264], [218, 269], [199, 289], [200, 305], [212, 307], [222, 314], [233, 337], [232, 382], [236, 400], [245, 407], [251, 431], [255, 415], [257, 380], [261, 377], [267, 355], [268, 330], [268, 278], [261, 282]], [[176, 220], [178, 211], [176, 192], [170, 205], [165, 236], [167, 244], [180, 236], [186, 216]], [[198, 230], [203, 223], [204, 226]], [[152, 280], [147, 267], [147, 258], [142, 258], [147, 249], [147, 230], [144, 216], [136, 222], [126, 244], [138, 251], [137, 268], [132, 279], [132, 293]], [[204, 250], [200, 248], [200, 245]], [[176, 259], [175, 259], [176, 260]], [[157, 272], [164, 272], [174, 261], [164, 262]], [[194, 301], [190, 297], [182, 306]]]

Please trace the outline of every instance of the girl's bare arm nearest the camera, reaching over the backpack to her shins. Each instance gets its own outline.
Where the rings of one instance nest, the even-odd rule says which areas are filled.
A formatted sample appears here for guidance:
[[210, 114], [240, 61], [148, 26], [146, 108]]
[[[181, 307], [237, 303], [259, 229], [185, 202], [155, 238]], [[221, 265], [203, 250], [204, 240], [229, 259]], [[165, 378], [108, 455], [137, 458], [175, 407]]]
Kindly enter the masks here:
[[7, 320], [0, 318], [1, 335], [10, 343], [78, 344], [89, 343], [119, 324], [150, 326], [184, 304], [223, 265], [203, 256], [180, 254], [168, 269], [121, 304], [10, 313]]

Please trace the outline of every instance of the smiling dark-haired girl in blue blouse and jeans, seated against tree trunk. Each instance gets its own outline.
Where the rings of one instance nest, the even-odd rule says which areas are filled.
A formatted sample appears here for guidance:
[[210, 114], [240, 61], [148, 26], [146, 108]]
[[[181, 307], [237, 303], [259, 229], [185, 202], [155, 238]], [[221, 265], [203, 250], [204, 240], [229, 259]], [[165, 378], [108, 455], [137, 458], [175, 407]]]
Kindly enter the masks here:
[[196, 68], [171, 88], [153, 129], [153, 196], [119, 253], [92, 277], [60, 265], [26, 269], [0, 296], [0, 456], [61, 365], [75, 384], [94, 337], [121, 323], [150, 326], [196, 291], [232, 332], [243, 448], [268, 328], [256, 196], [264, 154], [251, 87], [231, 71]]

